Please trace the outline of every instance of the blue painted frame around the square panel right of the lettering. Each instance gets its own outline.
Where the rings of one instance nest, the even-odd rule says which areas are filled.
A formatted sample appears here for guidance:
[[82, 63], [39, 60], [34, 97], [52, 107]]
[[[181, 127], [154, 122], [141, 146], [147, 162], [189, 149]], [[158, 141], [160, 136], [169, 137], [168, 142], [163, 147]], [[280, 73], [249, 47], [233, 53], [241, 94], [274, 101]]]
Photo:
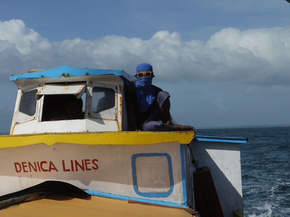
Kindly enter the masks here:
[[[139, 192], [137, 187], [137, 178], [136, 178], [136, 165], [135, 160], [137, 157], [156, 157], [156, 156], [165, 156], [168, 160], [168, 169], [169, 169], [169, 179], [170, 179], [170, 189], [168, 192]], [[133, 177], [133, 187], [139, 196], [142, 197], [168, 197], [173, 192], [174, 181], [173, 181], [173, 171], [172, 171], [172, 162], [171, 157], [168, 153], [140, 153], [132, 155], [132, 177]]]

